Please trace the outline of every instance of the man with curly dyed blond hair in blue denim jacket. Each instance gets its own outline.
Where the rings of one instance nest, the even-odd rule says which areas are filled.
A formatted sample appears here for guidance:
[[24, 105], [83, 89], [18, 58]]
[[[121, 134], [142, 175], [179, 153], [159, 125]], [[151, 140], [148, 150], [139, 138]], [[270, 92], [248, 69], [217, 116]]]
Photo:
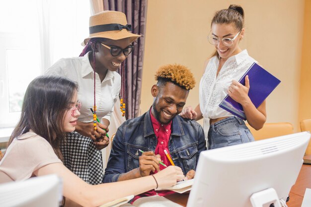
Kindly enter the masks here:
[[[105, 183], [155, 174], [165, 168], [159, 161], [166, 166], [180, 167], [185, 180], [194, 177], [199, 154], [206, 150], [203, 129], [196, 121], [178, 114], [186, 104], [195, 79], [187, 67], [177, 64], [160, 67], [155, 76], [157, 83], [151, 88], [152, 107], [144, 115], [124, 122], [113, 139], [103, 179]], [[170, 193], [148, 191], [136, 196], [134, 201], [144, 196]]]

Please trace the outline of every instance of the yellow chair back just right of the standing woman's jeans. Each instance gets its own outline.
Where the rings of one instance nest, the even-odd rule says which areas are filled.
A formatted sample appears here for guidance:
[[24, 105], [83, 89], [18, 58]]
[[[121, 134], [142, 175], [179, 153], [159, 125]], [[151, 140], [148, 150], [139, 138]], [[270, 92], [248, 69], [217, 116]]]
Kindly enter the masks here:
[[256, 131], [254, 128], [246, 124], [255, 140], [274, 138], [294, 133], [294, 127], [288, 122], [265, 123], [263, 127]]

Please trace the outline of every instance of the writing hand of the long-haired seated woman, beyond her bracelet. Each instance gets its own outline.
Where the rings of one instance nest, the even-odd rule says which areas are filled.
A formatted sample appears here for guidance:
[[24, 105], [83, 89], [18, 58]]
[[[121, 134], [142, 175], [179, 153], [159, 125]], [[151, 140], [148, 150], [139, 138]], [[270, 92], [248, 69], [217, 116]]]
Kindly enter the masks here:
[[176, 185], [177, 181], [184, 179], [184, 175], [180, 167], [168, 166], [165, 169], [154, 174], [158, 188], [167, 188]]

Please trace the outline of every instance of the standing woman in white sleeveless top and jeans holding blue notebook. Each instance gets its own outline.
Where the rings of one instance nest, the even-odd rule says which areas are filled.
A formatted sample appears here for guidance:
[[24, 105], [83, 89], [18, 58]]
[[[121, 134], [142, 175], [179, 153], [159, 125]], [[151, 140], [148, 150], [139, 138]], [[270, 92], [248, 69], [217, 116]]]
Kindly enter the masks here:
[[266, 102], [258, 108], [248, 97], [251, 87], [248, 76], [245, 86], [238, 81], [245, 71], [257, 62], [238, 43], [244, 35], [244, 10], [230, 5], [215, 13], [208, 41], [215, 46], [213, 56], [206, 61], [200, 81], [200, 103], [193, 110], [186, 107], [180, 116], [199, 120], [204, 118], [204, 134], [209, 149], [253, 141], [244, 121], [219, 107], [227, 94], [240, 103], [248, 124], [256, 130], [266, 122]]

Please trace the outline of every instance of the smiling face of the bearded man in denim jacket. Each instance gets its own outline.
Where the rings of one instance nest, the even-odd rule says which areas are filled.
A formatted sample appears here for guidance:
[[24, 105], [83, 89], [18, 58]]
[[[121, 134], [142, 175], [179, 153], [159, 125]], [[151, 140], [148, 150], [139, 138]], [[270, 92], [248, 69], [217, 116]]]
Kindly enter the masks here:
[[166, 124], [182, 111], [189, 91], [166, 82], [161, 86], [153, 85], [151, 93], [155, 97], [152, 114], [161, 124]]

